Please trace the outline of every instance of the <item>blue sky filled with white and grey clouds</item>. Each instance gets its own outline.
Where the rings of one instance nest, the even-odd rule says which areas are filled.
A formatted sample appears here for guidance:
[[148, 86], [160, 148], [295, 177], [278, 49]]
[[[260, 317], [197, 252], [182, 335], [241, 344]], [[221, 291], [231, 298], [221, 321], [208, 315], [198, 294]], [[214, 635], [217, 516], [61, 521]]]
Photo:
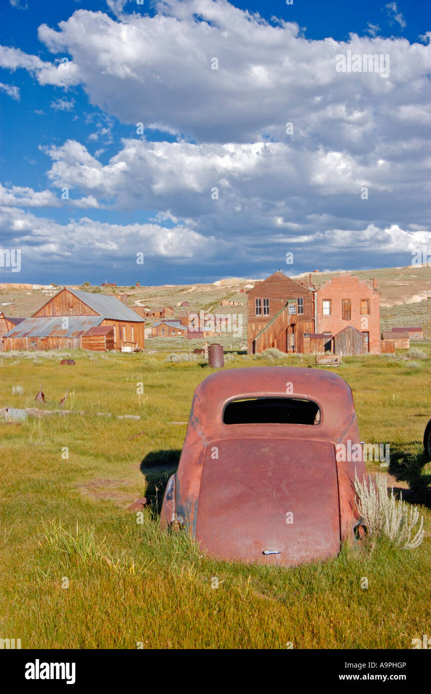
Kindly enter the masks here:
[[[425, 8], [3, 2], [0, 248], [21, 271], [0, 282], [212, 282], [431, 251]], [[337, 71], [348, 51], [389, 74]]]

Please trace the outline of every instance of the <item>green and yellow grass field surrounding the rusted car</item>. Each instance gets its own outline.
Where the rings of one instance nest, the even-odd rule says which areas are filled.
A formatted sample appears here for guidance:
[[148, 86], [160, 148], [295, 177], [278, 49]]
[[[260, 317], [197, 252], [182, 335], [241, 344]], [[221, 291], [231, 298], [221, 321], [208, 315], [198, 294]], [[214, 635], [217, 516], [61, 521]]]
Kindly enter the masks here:
[[[68, 409], [87, 413], [0, 425], [0, 637], [22, 648], [412, 648], [431, 633], [423, 349], [427, 359], [351, 357], [337, 370], [362, 440], [390, 444], [396, 486], [423, 505], [422, 545], [343, 548], [291, 569], [213, 561], [187, 536], [162, 534], [155, 511], [143, 523], [127, 511], [145, 493], [160, 500], [208, 366], [159, 354], [69, 353], [73, 367], [60, 366], [64, 353], [0, 356], [0, 407], [35, 407], [42, 384], [41, 409], [58, 408], [69, 387]], [[313, 357], [238, 356], [226, 368], [281, 363]], [[12, 394], [17, 385], [24, 393]], [[143, 459], [161, 462], [148, 478]]]

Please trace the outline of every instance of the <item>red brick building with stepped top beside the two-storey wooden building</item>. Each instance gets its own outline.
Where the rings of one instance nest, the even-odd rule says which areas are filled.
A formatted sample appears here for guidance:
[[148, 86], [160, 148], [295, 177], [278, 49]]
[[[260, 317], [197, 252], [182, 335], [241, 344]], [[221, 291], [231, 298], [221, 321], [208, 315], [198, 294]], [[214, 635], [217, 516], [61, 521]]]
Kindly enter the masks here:
[[335, 335], [346, 325], [368, 333], [369, 352], [380, 354], [380, 294], [348, 273], [325, 282], [317, 290], [315, 330]]

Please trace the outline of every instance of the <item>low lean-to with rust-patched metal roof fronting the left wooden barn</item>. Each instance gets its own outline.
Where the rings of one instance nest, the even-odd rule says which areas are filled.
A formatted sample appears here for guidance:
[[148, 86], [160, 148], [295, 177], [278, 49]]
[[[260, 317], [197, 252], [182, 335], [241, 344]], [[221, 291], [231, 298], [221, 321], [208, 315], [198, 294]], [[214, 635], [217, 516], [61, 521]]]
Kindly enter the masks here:
[[78, 349], [82, 335], [96, 328], [102, 320], [100, 316], [26, 318], [3, 337], [4, 349]]

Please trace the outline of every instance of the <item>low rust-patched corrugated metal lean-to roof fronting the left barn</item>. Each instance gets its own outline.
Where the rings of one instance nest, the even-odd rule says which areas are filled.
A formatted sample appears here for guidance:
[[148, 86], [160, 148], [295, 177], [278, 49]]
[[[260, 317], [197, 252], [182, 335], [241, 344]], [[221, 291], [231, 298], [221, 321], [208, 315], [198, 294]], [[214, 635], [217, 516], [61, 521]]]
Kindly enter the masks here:
[[83, 332], [100, 325], [102, 321], [103, 316], [26, 318], [3, 337], [80, 337]]

